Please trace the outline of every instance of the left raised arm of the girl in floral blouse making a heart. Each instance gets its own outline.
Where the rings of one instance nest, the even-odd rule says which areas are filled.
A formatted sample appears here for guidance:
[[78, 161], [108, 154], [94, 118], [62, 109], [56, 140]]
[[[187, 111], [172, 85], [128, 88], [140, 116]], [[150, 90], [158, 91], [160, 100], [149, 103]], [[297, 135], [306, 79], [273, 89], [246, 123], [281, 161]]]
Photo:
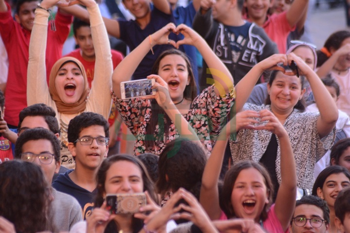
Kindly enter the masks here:
[[[140, 62], [153, 46], [167, 44], [170, 32], [176, 31], [175, 24], [169, 23], [157, 32], [145, 38], [141, 44], [130, 52], [119, 65], [114, 69], [112, 76], [113, 91], [118, 98], [121, 98], [120, 83], [129, 81]], [[175, 42], [171, 41], [175, 46]]]

